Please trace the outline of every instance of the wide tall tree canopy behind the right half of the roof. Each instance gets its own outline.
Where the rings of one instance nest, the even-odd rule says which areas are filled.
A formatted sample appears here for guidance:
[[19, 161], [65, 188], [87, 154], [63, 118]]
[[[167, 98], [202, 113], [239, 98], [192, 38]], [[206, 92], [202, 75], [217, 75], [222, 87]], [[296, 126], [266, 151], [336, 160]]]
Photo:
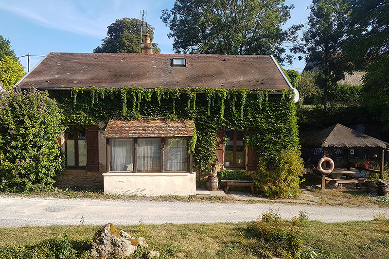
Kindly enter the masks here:
[[176, 0], [162, 10], [176, 53], [275, 55], [283, 63], [282, 42], [295, 40], [300, 26], [284, 31], [293, 5], [284, 0]]

